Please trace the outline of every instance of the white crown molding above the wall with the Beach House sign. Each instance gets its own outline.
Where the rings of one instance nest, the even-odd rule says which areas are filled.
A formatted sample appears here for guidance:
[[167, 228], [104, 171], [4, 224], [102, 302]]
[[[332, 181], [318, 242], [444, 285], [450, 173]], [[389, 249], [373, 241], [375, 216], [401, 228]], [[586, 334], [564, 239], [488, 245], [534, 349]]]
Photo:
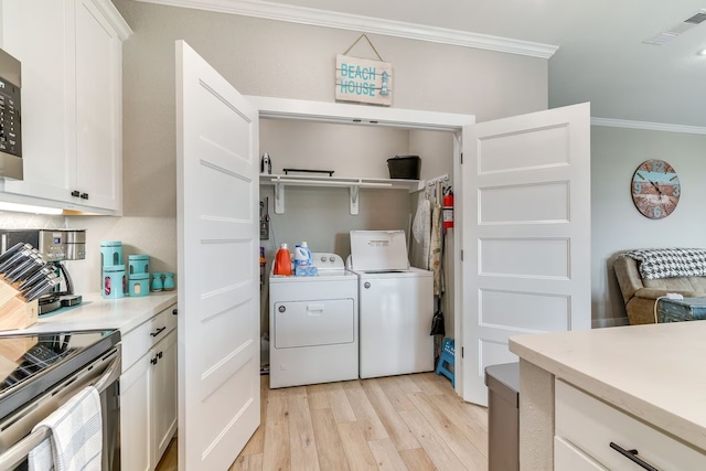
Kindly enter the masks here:
[[159, 3], [171, 7], [191, 8], [218, 13], [239, 14], [244, 17], [264, 18], [311, 26], [335, 28], [371, 34], [404, 38], [408, 40], [457, 45], [462, 47], [483, 49], [532, 57], [549, 58], [559, 49], [552, 44], [512, 40], [488, 34], [381, 18], [339, 13], [313, 8], [293, 7], [259, 0], [136, 0], [147, 3]]

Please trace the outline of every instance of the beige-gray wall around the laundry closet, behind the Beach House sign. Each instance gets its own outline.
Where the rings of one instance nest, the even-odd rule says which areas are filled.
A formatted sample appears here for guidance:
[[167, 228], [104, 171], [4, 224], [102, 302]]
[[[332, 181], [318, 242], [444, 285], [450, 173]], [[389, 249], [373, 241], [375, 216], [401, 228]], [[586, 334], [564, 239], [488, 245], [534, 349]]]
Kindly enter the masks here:
[[[360, 34], [131, 0], [114, 3], [135, 31], [124, 44], [124, 217], [69, 224], [88, 229], [89, 250], [97, 251], [100, 240], [120, 239], [130, 253], [152, 255], [156, 270], [175, 270], [174, 41], [185, 40], [245, 95], [333, 101], [335, 55]], [[394, 64], [396, 108], [469, 114], [482, 121], [547, 107], [546, 60], [368, 36]], [[373, 53], [356, 46], [351, 54]], [[280, 161], [276, 156], [275, 164]], [[359, 174], [373, 171], [365, 167]], [[366, 207], [391, 197], [374, 191], [363, 196], [364, 205], [368, 196], [377, 201]], [[311, 224], [309, 233], [329, 223]], [[95, 290], [95, 257], [76, 270], [86, 271], [75, 276], [77, 288]]]

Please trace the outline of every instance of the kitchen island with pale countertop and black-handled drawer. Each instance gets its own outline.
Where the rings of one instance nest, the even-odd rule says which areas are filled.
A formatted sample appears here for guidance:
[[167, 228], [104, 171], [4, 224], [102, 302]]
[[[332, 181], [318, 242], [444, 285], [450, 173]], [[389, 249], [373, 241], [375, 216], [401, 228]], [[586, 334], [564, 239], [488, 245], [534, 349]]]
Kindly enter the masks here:
[[641, 469], [610, 443], [654, 469], [706, 469], [706, 322], [518, 335], [510, 350], [522, 470]]

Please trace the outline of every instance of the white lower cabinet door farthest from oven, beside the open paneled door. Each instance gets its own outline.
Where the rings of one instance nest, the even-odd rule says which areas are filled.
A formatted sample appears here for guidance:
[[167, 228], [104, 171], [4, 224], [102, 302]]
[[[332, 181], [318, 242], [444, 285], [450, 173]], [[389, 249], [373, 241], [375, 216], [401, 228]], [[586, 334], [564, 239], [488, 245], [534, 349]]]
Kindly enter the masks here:
[[176, 330], [150, 352], [152, 366], [152, 446], [154, 465], [176, 430]]

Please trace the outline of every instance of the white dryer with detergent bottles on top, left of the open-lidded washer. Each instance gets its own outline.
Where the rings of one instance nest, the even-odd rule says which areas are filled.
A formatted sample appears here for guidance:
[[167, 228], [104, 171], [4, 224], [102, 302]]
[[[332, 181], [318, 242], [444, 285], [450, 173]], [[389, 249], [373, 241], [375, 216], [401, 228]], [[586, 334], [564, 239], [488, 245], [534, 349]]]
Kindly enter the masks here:
[[270, 388], [357, 378], [357, 277], [336, 254], [312, 256], [318, 276], [270, 271]]

